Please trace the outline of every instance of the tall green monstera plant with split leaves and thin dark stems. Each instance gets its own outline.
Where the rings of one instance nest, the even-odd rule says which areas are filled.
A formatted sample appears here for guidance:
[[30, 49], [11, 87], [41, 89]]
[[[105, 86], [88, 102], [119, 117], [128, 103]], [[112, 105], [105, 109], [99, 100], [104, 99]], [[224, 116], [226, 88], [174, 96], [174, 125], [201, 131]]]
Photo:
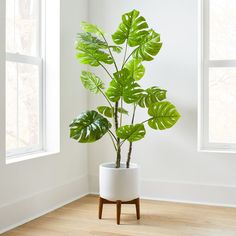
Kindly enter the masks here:
[[[116, 151], [117, 168], [121, 163], [121, 148], [128, 142], [126, 167], [129, 168], [133, 142], [145, 137], [145, 126], [168, 129], [180, 117], [175, 106], [166, 100], [165, 89], [156, 85], [143, 88], [139, 83], [145, 74], [143, 64], [152, 61], [162, 47], [160, 34], [149, 28], [137, 10], [122, 15], [122, 22], [112, 34], [113, 44], [98, 26], [87, 22], [81, 26], [84, 32], [77, 35], [76, 57], [82, 64], [103, 68], [109, 86], [105, 87], [105, 78], [82, 71], [83, 86], [102, 95], [106, 104], [76, 117], [70, 124], [70, 137], [80, 143], [92, 143], [108, 134]], [[123, 53], [120, 64], [115, 60], [117, 53]], [[147, 114], [146, 120], [135, 120], [138, 108]], [[124, 116], [130, 116], [125, 119], [128, 123], [124, 123]]]

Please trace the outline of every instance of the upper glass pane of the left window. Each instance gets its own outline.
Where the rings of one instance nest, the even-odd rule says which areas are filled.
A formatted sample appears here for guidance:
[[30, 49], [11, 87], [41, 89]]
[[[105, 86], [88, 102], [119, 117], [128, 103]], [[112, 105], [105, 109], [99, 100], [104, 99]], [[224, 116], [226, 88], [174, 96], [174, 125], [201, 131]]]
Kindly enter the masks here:
[[6, 1], [6, 51], [39, 54], [39, 0]]

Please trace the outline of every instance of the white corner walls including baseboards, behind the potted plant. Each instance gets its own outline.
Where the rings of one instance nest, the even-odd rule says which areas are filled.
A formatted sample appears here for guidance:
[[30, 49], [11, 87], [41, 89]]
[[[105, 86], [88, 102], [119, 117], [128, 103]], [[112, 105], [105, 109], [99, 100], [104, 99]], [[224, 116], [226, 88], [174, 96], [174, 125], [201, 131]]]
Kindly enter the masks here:
[[[146, 198], [236, 206], [236, 155], [197, 152], [197, 0], [89, 0], [89, 18], [107, 33], [120, 16], [139, 9], [161, 33], [163, 48], [145, 63], [145, 86], [168, 89], [182, 118], [171, 130], [148, 130], [134, 145], [133, 161], [141, 165]], [[0, 29], [3, 28], [0, 0]], [[88, 16], [86, 0], [61, 0], [61, 151], [59, 154], [5, 164], [4, 42], [0, 35], [0, 232], [88, 192], [98, 191], [98, 165], [113, 161], [110, 140], [79, 145], [68, 137], [71, 119], [102, 98], [89, 97], [79, 81], [82, 69], [74, 58], [73, 39]], [[105, 74], [95, 70], [102, 78]], [[137, 120], [146, 114], [139, 112]], [[89, 162], [87, 165], [87, 156]]]

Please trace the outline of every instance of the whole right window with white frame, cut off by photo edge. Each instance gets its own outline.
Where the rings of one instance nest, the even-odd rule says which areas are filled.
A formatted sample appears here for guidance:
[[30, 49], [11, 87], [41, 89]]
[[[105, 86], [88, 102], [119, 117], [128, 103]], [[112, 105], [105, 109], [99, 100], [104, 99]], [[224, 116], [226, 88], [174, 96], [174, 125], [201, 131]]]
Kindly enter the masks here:
[[200, 150], [236, 151], [236, 1], [203, 0]]

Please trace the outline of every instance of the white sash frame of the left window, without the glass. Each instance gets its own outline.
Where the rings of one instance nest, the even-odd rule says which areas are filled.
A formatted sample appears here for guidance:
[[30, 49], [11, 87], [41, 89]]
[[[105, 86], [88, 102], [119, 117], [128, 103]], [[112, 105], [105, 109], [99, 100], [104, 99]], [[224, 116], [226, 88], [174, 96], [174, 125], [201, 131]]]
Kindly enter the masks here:
[[[16, 148], [6, 150], [6, 158], [12, 159], [21, 157], [24, 155], [30, 155], [37, 152], [42, 152], [45, 150], [45, 137], [46, 137], [46, 129], [45, 129], [45, 68], [46, 68], [46, 35], [45, 35], [45, 0], [39, 0], [39, 10], [38, 10], [38, 30], [37, 30], [37, 55], [36, 56], [28, 56], [19, 53], [5, 53], [5, 62], [16, 62], [16, 63], [24, 63], [27, 65], [37, 65], [39, 68], [39, 143], [36, 145], [30, 145], [23, 148]], [[5, 36], [6, 37], [6, 36]], [[5, 75], [6, 78], [6, 75]], [[5, 134], [6, 136], [6, 134]]]

